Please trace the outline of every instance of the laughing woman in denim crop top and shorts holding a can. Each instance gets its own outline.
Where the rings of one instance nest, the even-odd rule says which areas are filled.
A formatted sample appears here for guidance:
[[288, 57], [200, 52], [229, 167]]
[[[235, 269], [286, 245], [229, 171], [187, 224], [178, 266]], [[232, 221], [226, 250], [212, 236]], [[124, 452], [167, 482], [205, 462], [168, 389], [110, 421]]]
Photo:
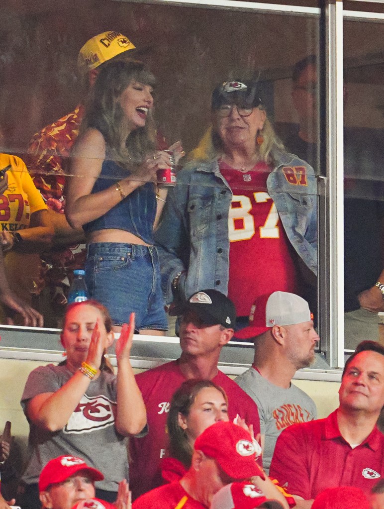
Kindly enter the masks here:
[[[156, 195], [156, 172], [170, 156], [155, 150], [154, 85], [141, 62], [103, 66], [74, 148], [66, 214], [87, 235], [87, 288], [109, 310], [114, 330], [135, 312], [140, 333], [164, 335], [153, 230], [166, 197], [166, 190]], [[177, 159], [181, 144], [170, 150]]]

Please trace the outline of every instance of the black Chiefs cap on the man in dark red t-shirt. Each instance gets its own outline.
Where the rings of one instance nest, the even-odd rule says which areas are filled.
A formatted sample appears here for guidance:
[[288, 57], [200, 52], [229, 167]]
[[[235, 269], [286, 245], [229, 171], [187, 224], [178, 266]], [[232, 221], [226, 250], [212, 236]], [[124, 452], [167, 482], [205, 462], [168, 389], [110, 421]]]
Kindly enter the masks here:
[[187, 302], [176, 305], [169, 314], [181, 316], [189, 311], [196, 313], [204, 325], [234, 328], [236, 310], [233, 302], [217, 290], [200, 290], [194, 293]]

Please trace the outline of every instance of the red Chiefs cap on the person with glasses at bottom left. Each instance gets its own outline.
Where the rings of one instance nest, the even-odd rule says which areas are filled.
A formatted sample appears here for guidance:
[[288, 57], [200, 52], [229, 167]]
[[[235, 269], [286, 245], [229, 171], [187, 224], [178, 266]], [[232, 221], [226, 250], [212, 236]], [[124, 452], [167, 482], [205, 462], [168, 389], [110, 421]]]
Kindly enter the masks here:
[[49, 485], [62, 483], [79, 470], [86, 470], [93, 480], [103, 480], [104, 475], [96, 468], [88, 467], [84, 460], [76, 456], [59, 456], [48, 461], [39, 478], [39, 491], [45, 491]]

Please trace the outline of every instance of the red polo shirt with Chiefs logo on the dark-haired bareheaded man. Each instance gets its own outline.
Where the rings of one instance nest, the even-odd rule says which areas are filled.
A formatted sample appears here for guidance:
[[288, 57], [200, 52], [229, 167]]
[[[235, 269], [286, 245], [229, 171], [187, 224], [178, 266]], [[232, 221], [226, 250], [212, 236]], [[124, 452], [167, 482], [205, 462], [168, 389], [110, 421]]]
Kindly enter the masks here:
[[355, 486], [368, 494], [384, 473], [384, 436], [375, 427], [352, 448], [340, 434], [337, 410], [326, 419], [290, 426], [277, 440], [270, 475], [305, 500], [326, 488]]

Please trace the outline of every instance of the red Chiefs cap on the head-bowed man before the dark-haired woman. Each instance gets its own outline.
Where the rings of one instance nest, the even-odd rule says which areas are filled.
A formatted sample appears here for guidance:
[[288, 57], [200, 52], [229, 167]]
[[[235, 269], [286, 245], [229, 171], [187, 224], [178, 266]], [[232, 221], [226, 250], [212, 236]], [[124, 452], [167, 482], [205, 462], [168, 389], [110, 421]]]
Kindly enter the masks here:
[[217, 461], [232, 479], [249, 479], [264, 472], [256, 463], [252, 437], [244, 428], [233, 422], [216, 422], [197, 437], [195, 450]]

